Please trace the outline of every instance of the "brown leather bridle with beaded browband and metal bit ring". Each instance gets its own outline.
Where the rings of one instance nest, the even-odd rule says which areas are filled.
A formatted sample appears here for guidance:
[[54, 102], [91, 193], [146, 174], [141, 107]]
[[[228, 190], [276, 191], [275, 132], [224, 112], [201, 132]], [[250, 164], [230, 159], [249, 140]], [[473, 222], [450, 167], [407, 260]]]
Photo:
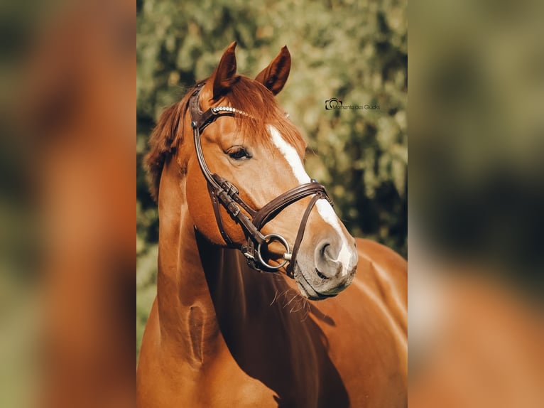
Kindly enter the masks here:
[[[281, 267], [284, 267], [285, 264], [289, 263], [286, 270], [288, 274], [293, 277], [298, 248], [300, 247], [300, 242], [303, 240], [306, 222], [308, 222], [308, 217], [310, 217], [312, 208], [314, 207], [315, 203], [317, 203], [317, 200], [320, 200], [321, 198], [328, 200], [329, 203], [332, 204], [332, 201], [325, 190], [325, 186], [322, 186], [322, 184], [312, 180], [311, 183], [302, 184], [286, 191], [281, 195], [278, 195], [278, 197], [264, 205], [260, 210], [254, 210], [251, 208], [250, 205], [240, 198], [239, 190], [236, 188], [236, 186], [234, 186], [234, 184], [210, 171], [210, 168], [208, 168], [204, 159], [202, 143], [200, 140], [200, 134], [202, 131], [204, 131], [204, 129], [218, 117], [234, 117], [235, 115], [249, 117], [249, 114], [246, 114], [246, 112], [242, 112], [241, 110], [233, 107], [211, 107], [210, 109], [207, 109], [206, 112], [202, 112], [200, 110], [198, 99], [203, 85], [204, 83], [201, 82], [197, 85], [195, 91], [192, 92], [189, 100], [189, 109], [197, 159], [200, 169], [202, 170], [202, 173], [207, 181], [208, 191], [210, 192], [210, 198], [212, 199], [212, 205], [214, 208], [215, 219], [217, 221], [217, 227], [219, 227], [219, 232], [221, 233], [223, 240], [227, 243], [227, 247], [239, 249], [241, 253], [244, 254], [247, 259], [247, 263], [251, 268], [264, 272], [276, 272]], [[305, 213], [303, 214], [302, 220], [300, 221], [298, 234], [292, 251], [287, 240], [285, 240], [285, 238], [281, 235], [263, 235], [261, 233], [261, 228], [267, 222], [273, 220], [273, 218], [275, 218], [276, 215], [281, 212], [281, 210], [302, 198], [308, 197], [309, 195], [313, 195], [313, 197], [312, 200], [310, 200]], [[243, 245], [236, 245], [224, 230], [219, 205], [222, 205], [225, 210], [227, 210], [227, 213], [229, 213], [231, 218], [241, 225], [242, 229], [244, 230], [244, 234], [246, 235], [246, 242]], [[242, 211], [242, 209], [245, 211], [245, 213]], [[283, 262], [277, 265], [268, 264], [262, 254], [263, 248], [266, 248], [268, 244], [274, 241], [280, 242], [281, 245], [285, 247]]]

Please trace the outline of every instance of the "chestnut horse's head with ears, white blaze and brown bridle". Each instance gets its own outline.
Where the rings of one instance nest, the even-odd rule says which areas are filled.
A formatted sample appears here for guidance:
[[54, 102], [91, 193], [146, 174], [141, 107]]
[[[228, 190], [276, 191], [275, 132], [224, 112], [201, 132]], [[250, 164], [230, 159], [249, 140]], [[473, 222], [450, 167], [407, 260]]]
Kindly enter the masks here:
[[192, 221], [256, 269], [292, 275], [303, 296], [334, 296], [351, 283], [357, 251], [325, 188], [306, 173], [305, 142], [274, 99], [289, 75], [289, 51], [251, 80], [236, 75], [235, 47], [165, 113], [183, 115], [181, 130], [170, 127], [182, 133], [178, 163]]

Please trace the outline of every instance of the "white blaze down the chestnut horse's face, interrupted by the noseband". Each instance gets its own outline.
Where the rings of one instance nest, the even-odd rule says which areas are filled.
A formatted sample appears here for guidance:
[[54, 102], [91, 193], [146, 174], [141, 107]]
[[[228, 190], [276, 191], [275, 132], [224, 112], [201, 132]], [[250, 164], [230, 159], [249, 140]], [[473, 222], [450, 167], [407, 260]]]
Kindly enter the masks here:
[[[272, 136], [274, 146], [281, 151], [281, 154], [283, 154], [285, 160], [291, 166], [293, 174], [298, 182], [300, 184], [310, 183], [311, 178], [308, 176], [308, 173], [306, 173], [303, 162], [300, 160], [300, 156], [298, 156], [295, 148], [288, 144], [285, 139], [283, 139], [276, 127], [268, 125], [268, 131]], [[338, 258], [336, 260], [342, 264], [342, 275], [346, 275], [347, 272], [353, 267], [351, 264], [352, 251], [349, 249], [350, 247], [349, 243], [347, 242], [347, 237], [340, 226], [336, 213], [334, 213], [334, 210], [332, 209], [332, 205], [330, 205], [327, 200], [317, 200], [315, 206], [317, 207], [317, 212], [321, 215], [321, 218], [327, 222], [327, 224], [331, 225], [337, 234], [342, 237], [342, 248], [340, 249]]]

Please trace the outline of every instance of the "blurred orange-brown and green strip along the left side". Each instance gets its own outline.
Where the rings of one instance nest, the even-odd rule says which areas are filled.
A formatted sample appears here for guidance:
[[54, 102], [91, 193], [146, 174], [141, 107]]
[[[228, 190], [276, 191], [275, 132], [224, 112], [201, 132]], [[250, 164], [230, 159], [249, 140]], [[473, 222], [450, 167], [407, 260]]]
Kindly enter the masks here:
[[134, 8], [0, 5], [0, 407], [134, 407]]

